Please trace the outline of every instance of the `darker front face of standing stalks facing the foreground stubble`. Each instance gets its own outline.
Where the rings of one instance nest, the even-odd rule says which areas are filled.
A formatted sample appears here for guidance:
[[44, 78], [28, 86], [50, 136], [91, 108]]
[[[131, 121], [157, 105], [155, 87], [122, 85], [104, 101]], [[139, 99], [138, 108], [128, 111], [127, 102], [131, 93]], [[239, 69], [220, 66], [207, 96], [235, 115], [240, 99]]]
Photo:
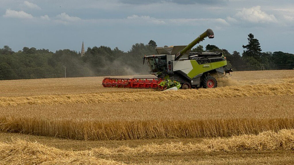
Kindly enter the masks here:
[[0, 131], [63, 137], [74, 140], [229, 137], [293, 129], [294, 118], [207, 119], [151, 121], [75, 121], [39, 118], [0, 118]]

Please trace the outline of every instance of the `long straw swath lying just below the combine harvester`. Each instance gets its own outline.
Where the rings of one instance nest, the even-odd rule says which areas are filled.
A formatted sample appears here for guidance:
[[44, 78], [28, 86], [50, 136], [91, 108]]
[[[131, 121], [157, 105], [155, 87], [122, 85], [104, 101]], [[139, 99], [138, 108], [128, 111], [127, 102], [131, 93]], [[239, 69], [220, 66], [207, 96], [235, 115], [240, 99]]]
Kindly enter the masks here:
[[0, 97], [0, 106], [69, 104], [69, 103], [114, 103], [138, 101], [173, 101], [208, 98], [232, 98], [245, 96], [294, 95], [294, 83], [227, 86], [215, 89], [191, 89], [180, 91], [150, 91], [136, 93], [99, 93], [61, 96]]

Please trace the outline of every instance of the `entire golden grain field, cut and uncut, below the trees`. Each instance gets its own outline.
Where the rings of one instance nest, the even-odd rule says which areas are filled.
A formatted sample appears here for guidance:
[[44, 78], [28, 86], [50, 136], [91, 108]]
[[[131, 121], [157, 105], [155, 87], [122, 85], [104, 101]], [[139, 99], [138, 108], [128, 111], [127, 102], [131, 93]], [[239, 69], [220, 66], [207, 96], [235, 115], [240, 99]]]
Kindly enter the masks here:
[[294, 70], [165, 92], [102, 80], [0, 81], [0, 164], [294, 163]]

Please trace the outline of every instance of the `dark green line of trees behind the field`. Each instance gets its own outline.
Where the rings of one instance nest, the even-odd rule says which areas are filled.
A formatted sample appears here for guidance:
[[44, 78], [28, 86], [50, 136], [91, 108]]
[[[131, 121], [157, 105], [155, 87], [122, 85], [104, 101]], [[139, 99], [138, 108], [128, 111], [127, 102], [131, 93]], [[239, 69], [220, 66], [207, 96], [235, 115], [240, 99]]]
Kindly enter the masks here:
[[[124, 52], [118, 47], [88, 47], [85, 55], [69, 49], [51, 52], [48, 49], [37, 50], [34, 47], [24, 47], [18, 52], [9, 46], [0, 49], [0, 80], [9, 79], [37, 79], [82, 77], [82, 76], [114, 76], [130, 74], [146, 74], [148, 66], [143, 64], [143, 56], [156, 54], [156, 42], [150, 40], [148, 44], [136, 43]], [[202, 45], [194, 48], [193, 52], [222, 52], [228, 61], [227, 68], [235, 71], [293, 69], [294, 55], [284, 52], [262, 52], [259, 41], [253, 34], [248, 35], [248, 45], [242, 56], [233, 51], [230, 54], [226, 49], [216, 45]]]

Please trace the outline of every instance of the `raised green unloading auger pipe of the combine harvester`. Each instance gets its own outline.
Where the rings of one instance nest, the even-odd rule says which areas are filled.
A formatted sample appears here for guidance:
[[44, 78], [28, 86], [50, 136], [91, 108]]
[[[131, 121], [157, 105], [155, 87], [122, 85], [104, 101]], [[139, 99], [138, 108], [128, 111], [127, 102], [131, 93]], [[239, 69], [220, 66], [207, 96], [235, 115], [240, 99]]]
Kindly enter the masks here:
[[204, 38], [214, 38], [214, 33], [211, 29], [207, 29], [204, 33], [199, 35], [195, 40], [193, 40], [188, 46], [186, 46], [183, 50], [176, 54], [176, 60], [179, 59], [183, 54], [185, 54], [188, 50], [192, 49], [196, 44], [203, 41]]

